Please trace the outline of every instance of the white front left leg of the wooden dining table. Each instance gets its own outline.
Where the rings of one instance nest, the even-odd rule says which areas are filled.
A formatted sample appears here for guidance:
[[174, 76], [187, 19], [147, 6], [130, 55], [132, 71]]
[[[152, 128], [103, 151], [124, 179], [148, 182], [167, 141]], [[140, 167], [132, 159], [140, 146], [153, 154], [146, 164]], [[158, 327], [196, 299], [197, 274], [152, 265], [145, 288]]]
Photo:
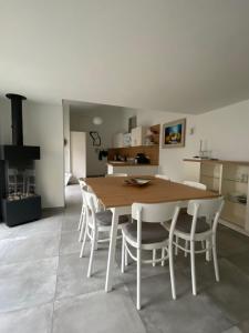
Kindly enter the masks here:
[[106, 271], [106, 280], [105, 280], [105, 291], [110, 292], [113, 287], [113, 268], [115, 261], [115, 252], [116, 252], [116, 234], [117, 234], [117, 224], [118, 224], [118, 209], [112, 209], [113, 220], [112, 220], [112, 229], [110, 234], [110, 246], [108, 246], [108, 261], [107, 261], [107, 271]]

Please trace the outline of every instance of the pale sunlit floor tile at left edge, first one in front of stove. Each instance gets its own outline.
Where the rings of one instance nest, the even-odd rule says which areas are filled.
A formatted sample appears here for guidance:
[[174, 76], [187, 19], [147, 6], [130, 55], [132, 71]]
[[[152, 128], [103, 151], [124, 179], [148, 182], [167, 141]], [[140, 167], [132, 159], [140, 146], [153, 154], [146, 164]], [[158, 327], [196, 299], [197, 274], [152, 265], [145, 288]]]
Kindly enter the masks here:
[[0, 241], [0, 265], [59, 255], [60, 234], [34, 234]]

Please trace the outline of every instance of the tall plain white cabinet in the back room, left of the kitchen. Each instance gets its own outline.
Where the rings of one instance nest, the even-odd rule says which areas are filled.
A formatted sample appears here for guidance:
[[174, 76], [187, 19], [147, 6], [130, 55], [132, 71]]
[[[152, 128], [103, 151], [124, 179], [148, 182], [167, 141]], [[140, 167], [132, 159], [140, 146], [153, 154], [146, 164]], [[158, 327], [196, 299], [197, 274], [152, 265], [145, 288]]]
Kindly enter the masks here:
[[76, 182], [86, 176], [86, 133], [70, 132], [71, 170]]

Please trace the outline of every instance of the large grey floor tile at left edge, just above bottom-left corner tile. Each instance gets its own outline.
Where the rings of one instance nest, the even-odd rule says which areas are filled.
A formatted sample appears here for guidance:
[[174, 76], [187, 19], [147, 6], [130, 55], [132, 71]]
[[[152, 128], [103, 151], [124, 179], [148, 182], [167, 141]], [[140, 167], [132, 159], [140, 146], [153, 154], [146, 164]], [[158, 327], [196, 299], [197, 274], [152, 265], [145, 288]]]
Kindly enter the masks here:
[[52, 301], [56, 269], [58, 258], [0, 266], [0, 312]]

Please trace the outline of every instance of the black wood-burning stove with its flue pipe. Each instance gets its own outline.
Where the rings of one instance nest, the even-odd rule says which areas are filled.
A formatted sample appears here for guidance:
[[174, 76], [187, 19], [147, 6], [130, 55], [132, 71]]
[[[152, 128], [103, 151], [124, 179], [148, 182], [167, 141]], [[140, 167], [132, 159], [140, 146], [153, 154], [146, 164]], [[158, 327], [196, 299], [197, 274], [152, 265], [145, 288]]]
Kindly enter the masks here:
[[34, 161], [40, 160], [40, 147], [23, 145], [22, 100], [11, 100], [12, 145], [0, 147], [0, 219], [9, 226], [41, 218], [41, 196], [35, 191]]

